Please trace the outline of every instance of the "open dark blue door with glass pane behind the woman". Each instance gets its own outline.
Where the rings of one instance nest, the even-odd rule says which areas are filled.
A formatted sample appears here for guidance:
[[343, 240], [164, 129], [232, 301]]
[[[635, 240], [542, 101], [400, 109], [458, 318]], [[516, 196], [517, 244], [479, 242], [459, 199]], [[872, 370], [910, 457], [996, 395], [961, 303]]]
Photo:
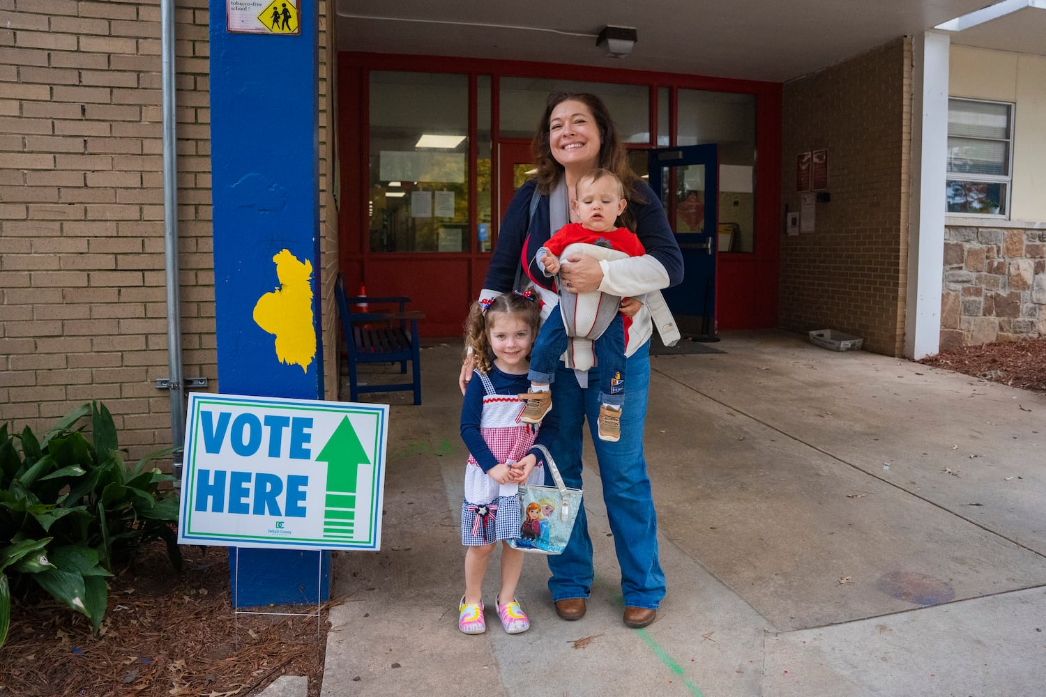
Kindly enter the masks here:
[[683, 282], [665, 301], [685, 336], [714, 342], [719, 155], [717, 146], [662, 147], [647, 155], [650, 185], [661, 198], [683, 253]]

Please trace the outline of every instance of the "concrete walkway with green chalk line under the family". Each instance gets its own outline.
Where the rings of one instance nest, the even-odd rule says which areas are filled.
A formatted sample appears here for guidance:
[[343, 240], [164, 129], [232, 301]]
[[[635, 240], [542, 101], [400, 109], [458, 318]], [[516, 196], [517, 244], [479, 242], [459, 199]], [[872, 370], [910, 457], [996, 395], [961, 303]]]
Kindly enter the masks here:
[[533, 555], [514, 636], [493, 595], [487, 632], [457, 630], [458, 345], [423, 350], [425, 403], [373, 399], [393, 404], [382, 551], [335, 555], [323, 697], [1043, 694], [1046, 396], [781, 331], [722, 338], [652, 358], [657, 622], [621, 623], [590, 472], [588, 614], [555, 617]]

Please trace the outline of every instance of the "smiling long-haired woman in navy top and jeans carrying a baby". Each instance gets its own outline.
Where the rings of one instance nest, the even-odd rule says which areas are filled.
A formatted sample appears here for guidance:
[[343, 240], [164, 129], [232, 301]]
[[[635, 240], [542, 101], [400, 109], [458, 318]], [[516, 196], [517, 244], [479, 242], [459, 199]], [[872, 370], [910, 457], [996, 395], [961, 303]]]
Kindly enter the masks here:
[[[654, 191], [629, 166], [614, 122], [598, 97], [566, 92], [549, 95], [532, 147], [538, 173], [520, 187], [508, 206], [481, 299], [511, 291], [522, 260], [526, 264], [523, 273], [539, 289], [545, 305], [555, 306], [553, 279], [546, 279], [538, 270], [535, 255], [560, 227], [576, 222], [571, 217], [569, 205], [575, 198], [574, 186], [579, 177], [597, 167], [611, 170], [624, 184], [629, 205], [620, 222], [634, 229], [646, 254], [615, 261], [571, 256], [561, 271], [564, 289], [570, 293], [598, 289], [628, 298], [682, 280], [683, 260], [664, 209]], [[551, 451], [567, 486], [581, 488], [582, 431], [588, 419], [621, 567], [624, 624], [645, 627], [656, 618], [665, 593], [664, 574], [658, 562], [657, 516], [642, 442], [653, 327], [650, 310], [638, 302], [622, 303], [622, 311], [632, 319], [626, 347], [629, 385], [620, 440], [602, 441], [595, 434], [600, 404], [598, 366], [575, 375], [574, 370], [561, 364], [552, 387], [552, 409], [559, 418], [560, 435]], [[462, 390], [472, 374], [471, 359], [464, 363]], [[591, 389], [581, 384], [586, 377]], [[593, 578], [592, 540], [584, 507], [566, 551], [550, 556], [548, 566], [552, 573], [548, 588], [556, 613], [564, 620], [579, 620], [585, 614], [585, 600], [591, 593]]]

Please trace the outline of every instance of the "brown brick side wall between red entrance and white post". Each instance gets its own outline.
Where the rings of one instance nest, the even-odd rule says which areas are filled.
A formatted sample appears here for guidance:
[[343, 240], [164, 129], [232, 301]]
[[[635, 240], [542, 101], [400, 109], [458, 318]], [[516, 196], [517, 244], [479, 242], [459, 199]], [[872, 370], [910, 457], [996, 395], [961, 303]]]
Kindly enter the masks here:
[[831, 201], [781, 243], [780, 324], [904, 349], [911, 42], [897, 40], [783, 87], [782, 191], [799, 210], [796, 156], [827, 148]]

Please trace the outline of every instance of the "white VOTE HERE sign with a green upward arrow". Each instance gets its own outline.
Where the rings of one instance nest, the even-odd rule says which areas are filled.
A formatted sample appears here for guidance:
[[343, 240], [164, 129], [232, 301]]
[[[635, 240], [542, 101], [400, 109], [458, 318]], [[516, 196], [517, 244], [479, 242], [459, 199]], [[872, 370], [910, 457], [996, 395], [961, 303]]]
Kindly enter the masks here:
[[378, 550], [388, 406], [189, 395], [178, 541]]

